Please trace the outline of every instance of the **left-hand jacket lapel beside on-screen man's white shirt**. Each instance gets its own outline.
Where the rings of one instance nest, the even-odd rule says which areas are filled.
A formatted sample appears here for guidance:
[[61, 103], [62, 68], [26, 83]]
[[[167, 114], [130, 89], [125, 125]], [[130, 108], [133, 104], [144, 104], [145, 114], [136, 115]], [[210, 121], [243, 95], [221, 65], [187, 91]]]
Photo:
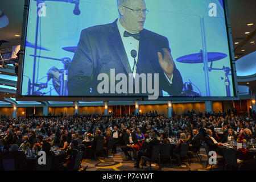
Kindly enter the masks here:
[[112, 40], [114, 49], [115, 51], [117, 51], [119, 59], [122, 62], [123, 67], [125, 67], [126, 72], [131, 73], [131, 68], [125, 52], [125, 47], [123, 47], [123, 42], [117, 27], [117, 20], [112, 23], [112, 26], [113, 27], [110, 28], [110, 39]]

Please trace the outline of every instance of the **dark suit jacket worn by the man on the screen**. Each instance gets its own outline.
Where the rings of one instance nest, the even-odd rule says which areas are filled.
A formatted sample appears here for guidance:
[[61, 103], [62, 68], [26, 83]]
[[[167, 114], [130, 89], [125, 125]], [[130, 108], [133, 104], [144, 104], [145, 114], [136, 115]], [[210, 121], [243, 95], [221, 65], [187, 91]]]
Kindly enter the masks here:
[[[180, 72], [175, 67], [172, 84], [170, 84], [158, 61], [157, 52], [163, 54], [162, 48], [170, 50], [168, 39], [146, 29], [143, 29], [139, 34], [141, 38], [139, 41], [137, 73], [159, 73], [159, 96], [162, 95], [162, 90], [170, 95], [179, 95], [183, 89]], [[68, 95], [91, 96], [90, 88], [92, 88], [93, 95], [104, 96], [104, 94], [98, 94], [97, 92], [97, 86], [101, 82], [101, 80], [97, 81], [97, 77], [100, 73], [106, 73], [110, 79], [110, 69], [115, 69], [115, 75], [125, 73], [128, 77], [128, 74], [131, 73], [130, 64], [117, 27], [117, 20], [110, 24], [82, 30], [75, 56], [68, 70]], [[154, 81], [154, 79], [152, 80]], [[115, 83], [117, 82], [119, 81]], [[154, 85], [154, 82], [152, 84]], [[127, 84], [127, 90], [128, 88], [129, 85]], [[114, 96], [113, 94], [106, 95]], [[134, 95], [127, 94], [127, 96]]]

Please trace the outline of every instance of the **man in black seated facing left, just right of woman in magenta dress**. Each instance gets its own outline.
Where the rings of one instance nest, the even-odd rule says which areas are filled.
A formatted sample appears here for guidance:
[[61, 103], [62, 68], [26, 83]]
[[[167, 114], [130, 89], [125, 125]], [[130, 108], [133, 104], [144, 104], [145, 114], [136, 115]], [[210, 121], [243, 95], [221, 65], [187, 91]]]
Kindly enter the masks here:
[[137, 160], [136, 160], [136, 163], [135, 163], [134, 167], [139, 168], [139, 161], [141, 160], [141, 157], [142, 156], [147, 156], [148, 158], [150, 158], [153, 147], [160, 145], [160, 140], [158, 140], [156, 137], [157, 137], [156, 133], [152, 132], [151, 133], [152, 140], [147, 145], [146, 151], [139, 151], [138, 152], [138, 157], [137, 157]]

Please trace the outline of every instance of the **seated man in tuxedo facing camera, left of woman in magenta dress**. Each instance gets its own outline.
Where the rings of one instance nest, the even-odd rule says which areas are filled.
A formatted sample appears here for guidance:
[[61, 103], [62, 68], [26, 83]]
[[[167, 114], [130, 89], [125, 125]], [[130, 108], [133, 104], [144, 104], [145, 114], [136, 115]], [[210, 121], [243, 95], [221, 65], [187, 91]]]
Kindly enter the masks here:
[[133, 151], [133, 156], [136, 158], [137, 151], [134, 147], [138, 143], [138, 138], [134, 133], [131, 133], [129, 129], [126, 130], [126, 136], [123, 137], [125, 145], [121, 147], [122, 151], [125, 153], [126, 160], [131, 160], [131, 155], [128, 153], [129, 150]]

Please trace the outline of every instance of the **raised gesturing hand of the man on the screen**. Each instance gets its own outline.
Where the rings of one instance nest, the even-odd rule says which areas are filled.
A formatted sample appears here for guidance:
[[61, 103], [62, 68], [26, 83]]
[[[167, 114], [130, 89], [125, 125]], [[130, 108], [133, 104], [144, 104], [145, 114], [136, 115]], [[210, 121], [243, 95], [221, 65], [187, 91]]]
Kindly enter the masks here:
[[161, 52], [158, 52], [158, 61], [164, 73], [166, 73], [167, 77], [171, 79], [174, 72], [174, 60], [167, 48], [163, 48], [163, 53], [164, 55], [162, 55]]

